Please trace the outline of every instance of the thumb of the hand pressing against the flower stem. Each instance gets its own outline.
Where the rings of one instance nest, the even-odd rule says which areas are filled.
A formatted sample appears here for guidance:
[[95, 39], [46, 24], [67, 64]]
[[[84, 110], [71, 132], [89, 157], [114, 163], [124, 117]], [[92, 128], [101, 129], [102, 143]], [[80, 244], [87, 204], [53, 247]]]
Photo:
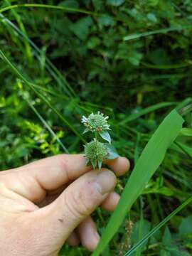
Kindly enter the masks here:
[[90, 171], [71, 183], [49, 206], [33, 212], [41, 221], [42, 232], [52, 234], [49, 245], [53, 242], [54, 247], [61, 247], [78, 224], [107, 198], [115, 184], [112, 171]]

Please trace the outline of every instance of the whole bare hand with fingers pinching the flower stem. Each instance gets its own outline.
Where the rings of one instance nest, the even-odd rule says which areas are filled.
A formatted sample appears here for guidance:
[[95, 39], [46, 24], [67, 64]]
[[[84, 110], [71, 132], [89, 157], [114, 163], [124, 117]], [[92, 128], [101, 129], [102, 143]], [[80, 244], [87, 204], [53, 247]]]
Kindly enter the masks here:
[[1, 256], [55, 256], [63, 243], [94, 250], [100, 240], [91, 213], [114, 210], [117, 176], [129, 170], [124, 157], [92, 170], [80, 154], [48, 157], [0, 172]]

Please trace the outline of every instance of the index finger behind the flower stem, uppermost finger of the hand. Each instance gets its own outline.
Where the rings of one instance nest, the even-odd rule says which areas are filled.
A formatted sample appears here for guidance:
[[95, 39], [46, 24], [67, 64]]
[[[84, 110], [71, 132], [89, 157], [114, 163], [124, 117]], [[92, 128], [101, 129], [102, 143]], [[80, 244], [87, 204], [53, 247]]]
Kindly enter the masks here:
[[[105, 164], [118, 176], [129, 168], [129, 161], [123, 157], [107, 160]], [[11, 171], [3, 171], [4, 183], [21, 196], [39, 202], [46, 191], [58, 189], [91, 169], [92, 166], [86, 166], [86, 158], [82, 154], [60, 154]]]

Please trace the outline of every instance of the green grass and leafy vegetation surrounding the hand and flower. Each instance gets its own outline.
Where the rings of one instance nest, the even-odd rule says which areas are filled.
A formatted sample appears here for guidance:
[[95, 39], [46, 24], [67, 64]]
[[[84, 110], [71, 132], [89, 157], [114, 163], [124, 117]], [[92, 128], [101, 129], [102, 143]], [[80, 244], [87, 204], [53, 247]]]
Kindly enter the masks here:
[[132, 162], [93, 255], [192, 254], [191, 35], [190, 0], [1, 1], [1, 170], [82, 152], [98, 110]]

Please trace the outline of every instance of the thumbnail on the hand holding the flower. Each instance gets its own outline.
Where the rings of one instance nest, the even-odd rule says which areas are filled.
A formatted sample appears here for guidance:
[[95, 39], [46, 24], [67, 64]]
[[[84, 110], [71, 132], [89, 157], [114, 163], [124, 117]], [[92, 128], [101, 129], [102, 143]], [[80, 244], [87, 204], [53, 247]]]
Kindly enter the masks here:
[[116, 176], [112, 171], [100, 171], [94, 181], [97, 191], [102, 195], [112, 191], [117, 182]]

